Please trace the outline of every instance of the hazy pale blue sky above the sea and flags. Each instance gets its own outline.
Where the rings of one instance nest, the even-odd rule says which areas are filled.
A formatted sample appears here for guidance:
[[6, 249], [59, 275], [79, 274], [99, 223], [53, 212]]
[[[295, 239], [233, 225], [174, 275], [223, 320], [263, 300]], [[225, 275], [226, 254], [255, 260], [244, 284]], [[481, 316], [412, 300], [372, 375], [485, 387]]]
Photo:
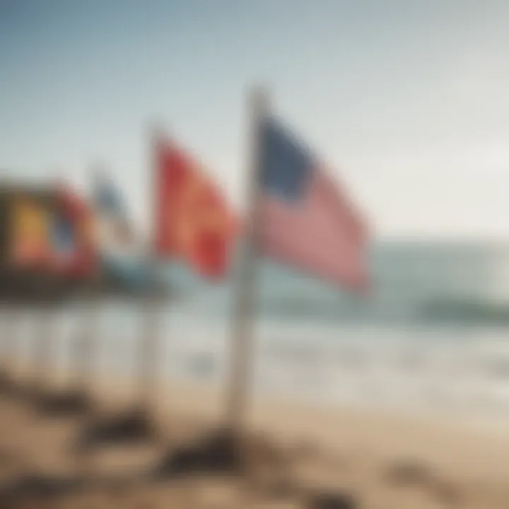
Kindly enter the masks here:
[[380, 238], [509, 238], [505, 0], [0, 0], [1, 176], [102, 165], [139, 228], [148, 126], [245, 204], [247, 91]]

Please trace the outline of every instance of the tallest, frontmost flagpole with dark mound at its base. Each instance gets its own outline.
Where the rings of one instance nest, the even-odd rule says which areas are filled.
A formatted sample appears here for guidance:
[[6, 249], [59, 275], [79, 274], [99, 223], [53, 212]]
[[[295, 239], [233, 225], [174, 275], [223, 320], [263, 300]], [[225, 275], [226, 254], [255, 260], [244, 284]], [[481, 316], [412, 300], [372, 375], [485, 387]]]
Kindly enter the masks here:
[[[245, 419], [250, 394], [254, 298], [256, 295], [256, 245], [259, 189], [259, 153], [262, 120], [267, 115], [269, 100], [263, 88], [254, 88], [248, 98], [250, 110], [248, 140], [247, 235], [235, 278], [233, 331], [230, 351], [230, 377], [226, 387], [226, 415], [223, 426], [192, 445], [189, 464], [185, 468], [213, 472], [243, 472], [247, 466]], [[178, 454], [170, 450], [156, 469], [159, 476], [171, 476], [182, 468]]]

